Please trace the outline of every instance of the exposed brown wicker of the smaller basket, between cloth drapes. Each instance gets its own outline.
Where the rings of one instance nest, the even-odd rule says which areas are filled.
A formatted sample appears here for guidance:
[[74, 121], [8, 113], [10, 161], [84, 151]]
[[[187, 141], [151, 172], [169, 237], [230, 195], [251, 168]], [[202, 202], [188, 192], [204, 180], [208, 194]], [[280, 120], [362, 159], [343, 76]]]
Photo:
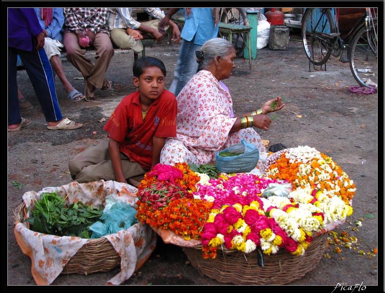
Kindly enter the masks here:
[[[14, 211], [15, 222], [25, 220], [25, 203], [21, 203]], [[111, 243], [104, 237], [88, 239], [86, 244], [70, 258], [61, 274], [87, 275], [96, 272], [110, 271], [120, 267], [121, 257]]]

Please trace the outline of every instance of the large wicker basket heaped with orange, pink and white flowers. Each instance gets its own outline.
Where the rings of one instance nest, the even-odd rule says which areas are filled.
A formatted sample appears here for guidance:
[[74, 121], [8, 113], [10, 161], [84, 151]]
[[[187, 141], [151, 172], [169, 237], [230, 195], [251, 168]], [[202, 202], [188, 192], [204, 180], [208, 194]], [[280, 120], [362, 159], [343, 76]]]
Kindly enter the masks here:
[[[355, 184], [313, 147], [268, 154], [261, 175], [215, 176], [201, 166], [210, 178], [183, 164], [159, 164], [144, 175], [138, 193], [151, 186], [152, 198], [138, 195], [137, 219], [221, 283], [283, 285], [302, 278], [323, 255], [328, 232], [353, 212]], [[181, 174], [170, 177], [175, 169]], [[188, 194], [167, 193], [170, 201], [157, 208], [165, 201], [159, 186], [172, 184], [169, 178], [189, 186]]]

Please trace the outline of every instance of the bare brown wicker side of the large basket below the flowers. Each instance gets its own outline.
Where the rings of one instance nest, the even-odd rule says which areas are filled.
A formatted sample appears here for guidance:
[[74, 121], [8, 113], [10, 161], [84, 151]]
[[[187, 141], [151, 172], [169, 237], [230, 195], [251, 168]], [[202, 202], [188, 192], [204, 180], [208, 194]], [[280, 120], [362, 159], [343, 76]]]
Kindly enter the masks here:
[[284, 285], [301, 279], [315, 268], [326, 248], [327, 233], [315, 236], [303, 256], [282, 249], [276, 255], [264, 255], [264, 266], [257, 265], [257, 252], [235, 250], [217, 252], [216, 258], [204, 259], [202, 246], [183, 247], [191, 264], [206, 276], [224, 284]]

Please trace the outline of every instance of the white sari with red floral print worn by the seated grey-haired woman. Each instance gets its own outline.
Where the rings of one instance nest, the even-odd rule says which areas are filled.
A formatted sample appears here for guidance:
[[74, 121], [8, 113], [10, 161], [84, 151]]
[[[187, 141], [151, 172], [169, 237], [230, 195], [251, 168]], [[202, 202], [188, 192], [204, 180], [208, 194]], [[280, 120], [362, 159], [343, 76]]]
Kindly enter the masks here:
[[[177, 96], [176, 138], [166, 140], [160, 162], [175, 165], [187, 162], [197, 165], [215, 162], [215, 153], [238, 144], [242, 139], [266, 147], [253, 128], [229, 133], [236, 118], [230, 118], [233, 102], [230, 94], [212, 73], [195, 74]], [[266, 158], [266, 155], [262, 155]], [[257, 169], [262, 167], [258, 162]]]

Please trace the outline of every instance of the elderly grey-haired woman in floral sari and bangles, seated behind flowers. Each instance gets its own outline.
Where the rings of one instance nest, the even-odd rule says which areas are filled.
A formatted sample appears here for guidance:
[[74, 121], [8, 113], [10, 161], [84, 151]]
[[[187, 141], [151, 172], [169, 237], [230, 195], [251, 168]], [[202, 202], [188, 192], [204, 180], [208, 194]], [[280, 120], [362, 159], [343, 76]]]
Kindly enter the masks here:
[[[166, 140], [160, 162], [174, 165], [187, 162], [196, 165], [215, 162], [215, 153], [238, 144], [242, 139], [258, 147], [259, 169], [266, 152], [258, 133], [252, 128], [268, 130], [266, 114], [283, 108], [280, 97], [269, 100], [261, 108], [243, 116], [234, 116], [233, 102], [221, 80], [229, 78], [235, 68], [234, 46], [223, 38], [208, 40], [196, 51], [200, 69], [176, 97], [176, 137]], [[272, 110], [271, 103], [277, 106]]]

